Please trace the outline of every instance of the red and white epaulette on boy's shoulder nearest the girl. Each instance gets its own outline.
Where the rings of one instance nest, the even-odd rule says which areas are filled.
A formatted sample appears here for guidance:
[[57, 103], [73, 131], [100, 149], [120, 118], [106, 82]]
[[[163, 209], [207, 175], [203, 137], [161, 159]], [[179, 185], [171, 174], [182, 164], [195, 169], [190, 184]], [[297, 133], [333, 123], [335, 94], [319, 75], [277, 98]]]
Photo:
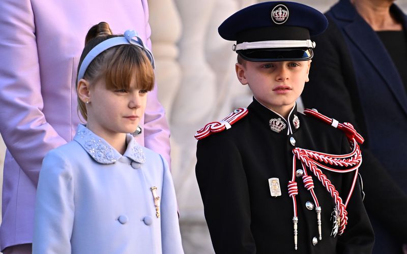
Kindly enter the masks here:
[[194, 137], [199, 140], [208, 137], [209, 135], [221, 132], [231, 128], [231, 125], [245, 117], [249, 113], [247, 108], [238, 108], [231, 112], [228, 116], [218, 122], [207, 123], [203, 128], [198, 130]]

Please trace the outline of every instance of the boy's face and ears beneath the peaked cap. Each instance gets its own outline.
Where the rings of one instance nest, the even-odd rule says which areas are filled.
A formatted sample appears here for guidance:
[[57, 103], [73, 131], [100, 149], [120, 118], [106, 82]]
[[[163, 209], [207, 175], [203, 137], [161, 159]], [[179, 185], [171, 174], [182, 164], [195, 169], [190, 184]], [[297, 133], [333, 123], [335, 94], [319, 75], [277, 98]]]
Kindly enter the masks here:
[[254, 98], [286, 117], [300, 97], [311, 60], [236, 63], [236, 74], [239, 81], [248, 84]]

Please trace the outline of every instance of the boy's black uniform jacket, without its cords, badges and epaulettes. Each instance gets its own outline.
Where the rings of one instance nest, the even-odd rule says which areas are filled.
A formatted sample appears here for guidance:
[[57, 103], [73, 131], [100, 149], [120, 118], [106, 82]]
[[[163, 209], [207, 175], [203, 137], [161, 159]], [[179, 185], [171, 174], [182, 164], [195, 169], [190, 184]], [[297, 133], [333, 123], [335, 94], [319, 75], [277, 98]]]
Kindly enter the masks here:
[[[293, 148], [301, 147], [331, 154], [350, 152], [350, 145], [340, 130], [318, 119], [297, 112], [289, 115], [288, 125], [280, 133], [271, 131], [269, 121], [281, 118], [256, 100], [248, 115], [230, 129], [198, 141], [196, 178], [205, 207], [212, 243], [216, 253], [370, 253], [373, 231], [355, 187], [347, 206], [348, 225], [341, 236], [330, 236], [331, 213], [335, 202], [321, 182], [312, 175], [314, 190], [322, 208], [323, 239], [318, 237], [315, 209], [311, 194], [298, 182], [298, 250], [294, 249], [293, 201], [287, 183], [292, 178]], [[295, 129], [294, 117], [300, 120]], [[281, 118], [283, 120], [283, 118]], [[283, 120], [286, 122], [285, 120]], [[287, 124], [287, 123], [286, 123]], [[290, 137], [296, 140], [295, 146]], [[301, 168], [298, 161], [297, 168]], [[323, 173], [331, 180], [343, 200], [351, 187], [353, 173]], [[279, 178], [281, 193], [271, 197], [268, 179]]]

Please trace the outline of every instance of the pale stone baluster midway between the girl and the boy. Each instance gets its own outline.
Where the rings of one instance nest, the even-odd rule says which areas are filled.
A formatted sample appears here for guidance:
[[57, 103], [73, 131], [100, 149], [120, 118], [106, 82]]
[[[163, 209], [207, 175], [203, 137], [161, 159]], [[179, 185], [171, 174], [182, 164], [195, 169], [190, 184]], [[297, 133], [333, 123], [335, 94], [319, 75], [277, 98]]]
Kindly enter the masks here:
[[216, 0], [196, 2], [176, 0], [183, 24], [179, 42], [181, 86], [172, 105], [171, 152], [173, 175], [180, 208], [180, 226], [185, 253], [213, 253], [195, 178], [193, 137], [199, 126], [212, 114], [216, 96], [216, 76], [208, 65], [205, 52], [206, 33]]

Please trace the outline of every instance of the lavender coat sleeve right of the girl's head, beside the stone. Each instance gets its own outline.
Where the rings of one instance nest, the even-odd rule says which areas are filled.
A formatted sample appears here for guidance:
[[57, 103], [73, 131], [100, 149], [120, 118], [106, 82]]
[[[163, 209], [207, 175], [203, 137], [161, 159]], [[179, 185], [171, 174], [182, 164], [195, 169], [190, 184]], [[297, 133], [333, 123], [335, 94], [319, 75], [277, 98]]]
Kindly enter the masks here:
[[[146, 20], [147, 47], [151, 49], [151, 28], [148, 22], [149, 8], [147, 0], [143, 0], [142, 4]], [[156, 66], [156, 68], [159, 67]], [[155, 84], [154, 90], [148, 94], [146, 113], [144, 114], [144, 146], [160, 153], [167, 160], [168, 165], [171, 165], [169, 146], [170, 133], [164, 108], [158, 101], [157, 89], [157, 84]]]

